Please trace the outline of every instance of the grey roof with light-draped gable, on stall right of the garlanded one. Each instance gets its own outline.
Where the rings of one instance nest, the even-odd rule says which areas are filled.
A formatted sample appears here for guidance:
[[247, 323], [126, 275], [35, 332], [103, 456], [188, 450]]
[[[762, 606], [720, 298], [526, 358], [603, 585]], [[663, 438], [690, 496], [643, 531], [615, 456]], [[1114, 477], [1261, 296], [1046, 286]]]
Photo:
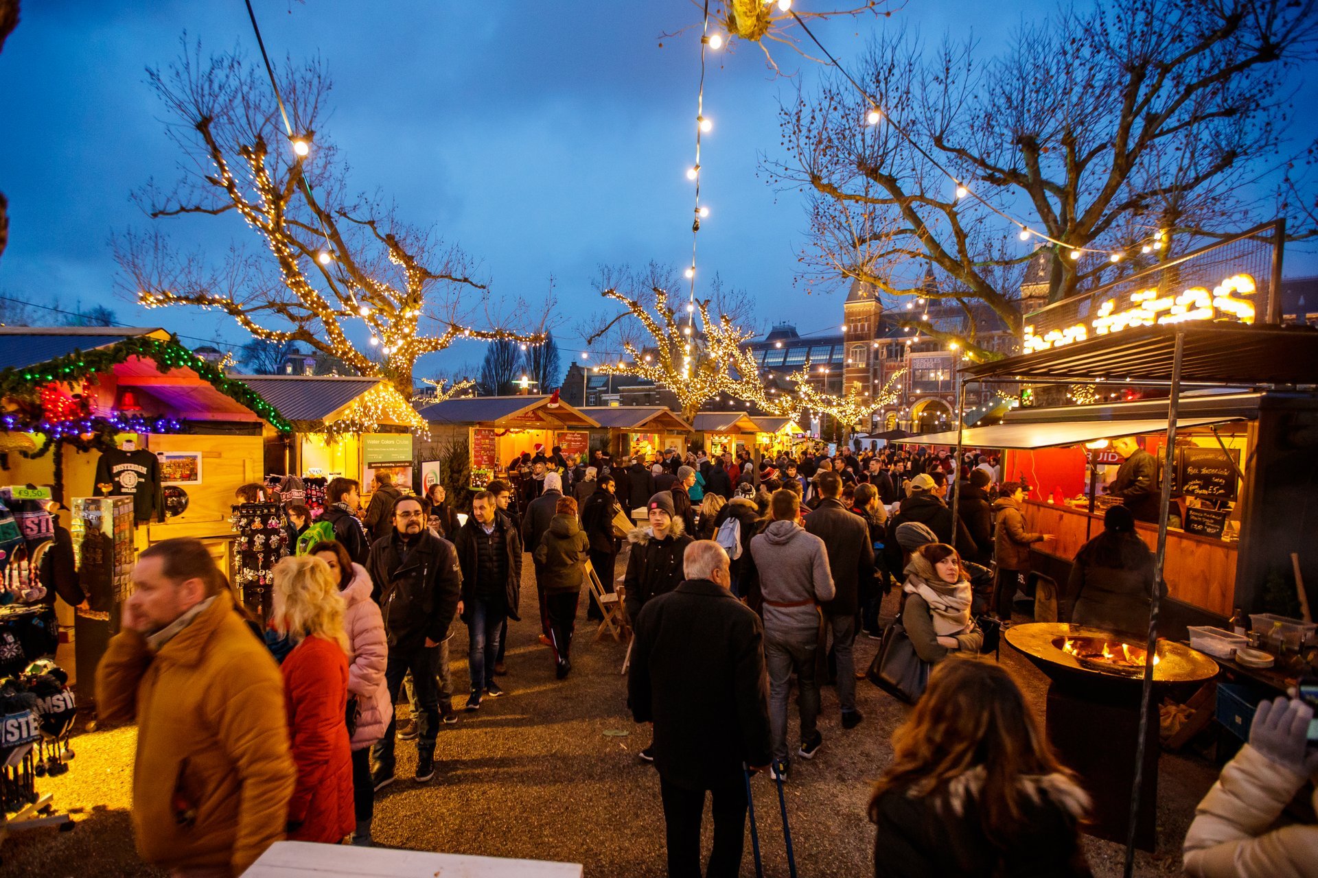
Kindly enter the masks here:
[[[370, 420], [385, 426], [422, 426], [415, 411], [393, 383], [374, 375], [235, 375], [278, 408], [295, 430], [316, 433], [352, 413], [364, 398]], [[394, 409], [394, 413], [390, 413]]]

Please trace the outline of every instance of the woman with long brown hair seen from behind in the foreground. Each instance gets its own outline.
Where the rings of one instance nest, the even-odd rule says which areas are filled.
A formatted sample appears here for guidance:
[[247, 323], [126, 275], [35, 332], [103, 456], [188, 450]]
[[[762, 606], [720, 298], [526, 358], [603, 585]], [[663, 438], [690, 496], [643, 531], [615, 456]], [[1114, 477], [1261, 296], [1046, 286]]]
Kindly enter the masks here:
[[870, 799], [875, 878], [1093, 874], [1078, 828], [1089, 795], [1002, 666], [934, 669], [892, 749]]

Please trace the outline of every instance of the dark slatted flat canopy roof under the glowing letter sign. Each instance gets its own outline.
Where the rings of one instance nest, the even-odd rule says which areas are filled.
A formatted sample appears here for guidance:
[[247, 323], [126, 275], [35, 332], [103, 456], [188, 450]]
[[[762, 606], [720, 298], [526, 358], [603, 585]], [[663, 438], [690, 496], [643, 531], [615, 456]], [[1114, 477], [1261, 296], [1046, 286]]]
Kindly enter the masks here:
[[1318, 328], [1244, 324], [1140, 326], [1032, 354], [975, 363], [967, 379], [1029, 382], [1104, 379], [1166, 384], [1176, 336], [1185, 334], [1181, 380], [1193, 384], [1313, 384], [1318, 382]]

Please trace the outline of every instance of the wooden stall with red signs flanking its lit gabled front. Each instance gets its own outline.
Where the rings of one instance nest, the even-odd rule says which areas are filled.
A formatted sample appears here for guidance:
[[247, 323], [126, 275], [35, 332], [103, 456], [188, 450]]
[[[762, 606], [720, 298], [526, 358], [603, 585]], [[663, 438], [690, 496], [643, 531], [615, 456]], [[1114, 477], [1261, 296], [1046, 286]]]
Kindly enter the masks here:
[[430, 440], [420, 444], [422, 465], [444, 459], [455, 444], [465, 444], [472, 488], [506, 473], [523, 452], [548, 455], [555, 445], [584, 452], [589, 430], [600, 429], [597, 420], [558, 394], [447, 399], [423, 407], [420, 416], [430, 425]]

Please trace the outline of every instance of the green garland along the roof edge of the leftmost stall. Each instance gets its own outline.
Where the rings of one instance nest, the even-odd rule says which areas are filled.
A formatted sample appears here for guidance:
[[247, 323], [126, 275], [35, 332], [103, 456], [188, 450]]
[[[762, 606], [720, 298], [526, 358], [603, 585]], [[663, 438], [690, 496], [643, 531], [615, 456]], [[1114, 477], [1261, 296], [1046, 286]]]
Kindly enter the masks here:
[[42, 384], [50, 382], [80, 380], [90, 375], [107, 373], [125, 362], [129, 357], [150, 359], [162, 374], [171, 369], [191, 369], [240, 405], [245, 405], [282, 433], [291, 433], [293, 425], [279, 415], [278, 409], [265, 401], [245, 383], [229, 378], [214, 363], [210, 363], [181, 345], [175, 338], [167, 341], [149, 336], [130, 336], [112, 346], [100, 350], [74, 350], [71, 354], [46, 361], [26, 369], [5, 369], [0, 371], [0, 398], [34, 398]]

